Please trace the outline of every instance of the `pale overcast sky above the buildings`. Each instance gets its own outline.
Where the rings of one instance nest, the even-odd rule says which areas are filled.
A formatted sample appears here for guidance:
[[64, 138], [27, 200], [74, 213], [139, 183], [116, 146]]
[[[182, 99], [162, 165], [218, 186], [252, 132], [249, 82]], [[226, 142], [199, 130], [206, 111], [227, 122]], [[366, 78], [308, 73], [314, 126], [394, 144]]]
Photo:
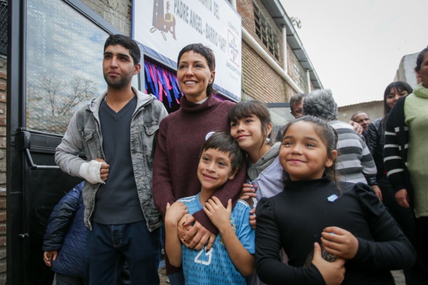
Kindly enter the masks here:
[[428, 45], [428, 0], [280, 0], [339, 106], [383, 100], [400, 60]]

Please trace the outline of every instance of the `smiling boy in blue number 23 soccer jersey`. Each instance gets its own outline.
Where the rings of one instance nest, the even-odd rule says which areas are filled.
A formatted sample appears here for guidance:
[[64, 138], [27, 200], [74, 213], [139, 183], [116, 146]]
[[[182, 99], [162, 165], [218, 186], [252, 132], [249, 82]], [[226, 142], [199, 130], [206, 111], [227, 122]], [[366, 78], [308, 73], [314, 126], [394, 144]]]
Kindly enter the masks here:
[[[202, 146], [198, 179], [202, 184], [198, 195], [167, 204], [165, 214], [165, 251], [171, 265], [183, 265], [186, 285], [246, 284], [245, 276], [254, 269], [254, 229], [249, 224], [250, 206], [238, 200], [232, 209], [216, 198], [214, 191], [239, 170], [243, 152], [236, 141], [225, 132], [215, 132]], [[218, 228], [210, 250], [189, 249], [177, 235], [177, 223], [184, 214], [204, 212]]]

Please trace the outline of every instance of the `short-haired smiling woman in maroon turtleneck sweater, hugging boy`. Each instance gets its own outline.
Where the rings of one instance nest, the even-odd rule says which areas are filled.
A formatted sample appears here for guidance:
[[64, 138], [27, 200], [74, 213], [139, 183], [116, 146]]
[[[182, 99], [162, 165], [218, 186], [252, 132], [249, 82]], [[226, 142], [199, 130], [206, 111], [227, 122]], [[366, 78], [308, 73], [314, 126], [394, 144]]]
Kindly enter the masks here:
[[[201, 146], [208, 133], [229, 132], [227, 114], [234, 105], [229, 101], [219, 101], [212, 95], [215, 58], [210, 48], [202, 44], [188, 45], [180, 51], [177, 63], [178, 82], [184, 93], [180, 100], [181, 109], [160, 123], [153, 161], [153, 199], [163, 216], [166, 203], [172, 204], [201, 191], [196, 175]], [[245, 182], [245, 173], [243, 163], [235, 179], [227, 182], [213, 196], [224, 206], [230, 198], [235, 203]], [[210, 237], [215, 237], [218, 230], [203, 211], [193, 214], [193, 217], [196, 221], [182, 242], [197, 250], [209, 242], [208, 249], [211, 248], [214, 238]], [[167, 265], [167, 274], [174, 271]], [[171, 278], [170, 281], [173, 284]]]

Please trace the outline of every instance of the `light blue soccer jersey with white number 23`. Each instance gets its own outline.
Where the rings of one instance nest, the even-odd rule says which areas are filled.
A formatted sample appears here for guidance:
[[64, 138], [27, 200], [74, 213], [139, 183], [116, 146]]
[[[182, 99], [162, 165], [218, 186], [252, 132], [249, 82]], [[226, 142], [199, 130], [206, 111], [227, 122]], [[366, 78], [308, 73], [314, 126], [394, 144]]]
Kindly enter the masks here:
[[[202, 210], [199, 194], [179, 199], [179, 201], [186, 204], [189, 214]], [[255, 232], [249, 224], [250, 210], [246, 202], [238, 200], [230, 214], [230, 224], [242, 245], [249, 253], [254, 254]], [[209, 251], [206, 251], [205, 247], [201, 250], [193, 250], [185, 245], [182, 245], [182, 249], [186, 285], [246, 285], [246, 278], [230, 260], [220, 234], [215, 237], [214, 245]]]

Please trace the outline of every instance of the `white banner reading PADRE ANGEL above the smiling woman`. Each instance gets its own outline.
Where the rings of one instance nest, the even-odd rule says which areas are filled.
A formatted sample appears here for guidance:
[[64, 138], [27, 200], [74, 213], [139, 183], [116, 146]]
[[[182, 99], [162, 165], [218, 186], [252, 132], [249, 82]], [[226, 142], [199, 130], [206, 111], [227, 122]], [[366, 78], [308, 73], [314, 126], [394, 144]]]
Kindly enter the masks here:
[[227, 0], [133, 0], [132, 37], [144, 54], [174, 69], [180, 50], [202, 43], [214, 51], [214, 88], [241, 100], [241, 16]]

